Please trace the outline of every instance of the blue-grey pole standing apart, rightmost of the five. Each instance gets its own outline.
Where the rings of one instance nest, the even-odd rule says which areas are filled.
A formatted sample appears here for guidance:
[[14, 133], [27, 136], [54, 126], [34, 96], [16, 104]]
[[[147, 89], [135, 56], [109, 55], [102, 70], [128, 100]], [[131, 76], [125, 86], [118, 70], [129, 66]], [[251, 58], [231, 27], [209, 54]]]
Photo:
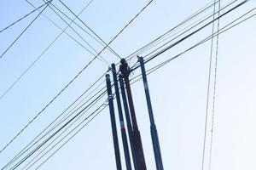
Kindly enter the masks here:
[[154, 115], [153, 115], [151, 99], [150, 99], [150, 95], [149, 95], [148, 80], [147, 80], [147, 75], [146, 75], [146, 71], [145, 71], [144, 60], [143, 60], [143, 57], [138, 57], [138, 60], [141, 65], [144, 90], [145, 90], [145, 95], [146, 95], [146, 100], [147, 100], [147, 105], [148, 105], [148, 115], [149, 115], [149, 120], [150, 120], [150, 133], [151, 133], [151, 139], [152, 139], [153, 148], [154, 148], [154, 161], [155, 161], [156, 169], [163, 170], [164, 167], [163, 167], [163, 162], [162, 162], [162, 157], [161, 157], [160, 143], [159, 143], [159, 139], [158, 139], [157, 129], [156, 129], [156, 126], [154, 123]]

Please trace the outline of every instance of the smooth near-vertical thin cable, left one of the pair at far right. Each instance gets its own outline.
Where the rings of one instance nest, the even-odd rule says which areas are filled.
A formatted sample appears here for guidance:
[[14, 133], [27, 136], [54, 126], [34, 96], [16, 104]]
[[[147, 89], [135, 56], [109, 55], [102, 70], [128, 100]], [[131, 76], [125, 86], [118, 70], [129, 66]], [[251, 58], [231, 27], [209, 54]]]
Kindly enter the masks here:
[[[213, 19], [215, 20], [215, 11], [216, 5], [213, 8]], [[218, 12], [219, 14], [219, 12]], [[218, 19], [219, 20], [219, 19]], [[211, 51], [209, 59], [209, 71], [208, 71], [208, 83], [207, 83], [207, 106], [206, 106], [206, 116], [205, 116], [205, 126], [204, 126], [204, 138], [203, 138], [203, 150], [202, 150], [202, 161], [201, 161], [201, 170], [204, 170], [205, 165], [205, 154], [206, 154], [206, 143], [207, 143], [207, 122], [208, 122], [208, 108], [209, 108], [209, 95], [210, 95], [210, 85], [211, 85], [211, 75], [212, 75], [212, 50], [213, 50], [213, 36], [214, 36], [214, 25], [215, 22], [212, 22], [212, 42], [211, 42]]]

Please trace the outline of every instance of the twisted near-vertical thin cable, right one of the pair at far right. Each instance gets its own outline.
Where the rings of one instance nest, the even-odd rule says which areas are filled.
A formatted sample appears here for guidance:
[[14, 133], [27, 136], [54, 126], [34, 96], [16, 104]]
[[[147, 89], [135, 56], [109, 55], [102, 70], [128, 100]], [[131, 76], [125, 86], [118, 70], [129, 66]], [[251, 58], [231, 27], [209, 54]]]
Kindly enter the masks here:
[[[220, 8], [220, 2], [218, 2], [218, 8]], [[219, 16], [219, 13], [218, 13]], [[217, 35], [219, 31], [219, 22], [217, 27]], [[209, 156], [209, 170], [212, 168], [212, 139], [213, 139], [213, 128], [214, 128], [214, 116], [215, 116], [215, 100], [216, 100], [216, 85], [217, 85], [217, 69], [218, 69], [218, 36], [216, 40], [216, 52], [215, 52], [215, 66], [214, 66], [214, 83], [213, 83], [213, 99], [212, 99], [212, 127], [211, 127], [211, 139], [210, 139], [210, 156]]]

